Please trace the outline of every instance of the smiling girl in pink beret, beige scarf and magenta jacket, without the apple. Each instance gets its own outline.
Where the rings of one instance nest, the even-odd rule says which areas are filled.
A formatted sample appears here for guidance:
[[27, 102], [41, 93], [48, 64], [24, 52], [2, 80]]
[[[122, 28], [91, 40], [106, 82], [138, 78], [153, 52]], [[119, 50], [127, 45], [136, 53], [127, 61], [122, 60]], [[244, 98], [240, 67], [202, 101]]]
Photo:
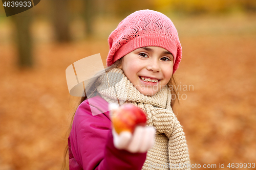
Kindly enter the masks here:
[[[173, 74], [182, 56], [173, 22], [160, 12], [136, 11], [108, 41], [108, 67], [88, 84], [74, 115], [70, 169], [190, 169], [185, 134], [172, 110]], [[117, 135], [109, 103], [143, 109], [146, 127]]]

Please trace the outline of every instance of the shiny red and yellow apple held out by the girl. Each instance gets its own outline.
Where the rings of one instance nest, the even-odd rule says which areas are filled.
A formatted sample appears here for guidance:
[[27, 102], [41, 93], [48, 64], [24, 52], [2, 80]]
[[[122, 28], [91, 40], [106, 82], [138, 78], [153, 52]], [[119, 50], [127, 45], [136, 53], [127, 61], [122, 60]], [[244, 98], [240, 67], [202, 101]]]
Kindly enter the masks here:
[[136, 126], [146, 125], [146, 114], [132, 104], [125, 104], [112, 110], [112, 123], [118, 134], [123, 131], [133, 133]]

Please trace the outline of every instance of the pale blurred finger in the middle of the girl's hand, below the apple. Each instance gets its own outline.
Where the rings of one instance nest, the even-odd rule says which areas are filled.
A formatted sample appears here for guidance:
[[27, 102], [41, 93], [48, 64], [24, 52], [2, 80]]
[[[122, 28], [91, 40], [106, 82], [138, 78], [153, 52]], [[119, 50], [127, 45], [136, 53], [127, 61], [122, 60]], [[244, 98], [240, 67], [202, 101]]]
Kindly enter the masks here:
[[142, 126], [137, 126], [135, 128], [132, 141], [128, 145], [127, 150], [131, 153], [136, 153], [139, 150], [140, 142], [142, 139], [142, 133], [143, 133], [143, 127]]

